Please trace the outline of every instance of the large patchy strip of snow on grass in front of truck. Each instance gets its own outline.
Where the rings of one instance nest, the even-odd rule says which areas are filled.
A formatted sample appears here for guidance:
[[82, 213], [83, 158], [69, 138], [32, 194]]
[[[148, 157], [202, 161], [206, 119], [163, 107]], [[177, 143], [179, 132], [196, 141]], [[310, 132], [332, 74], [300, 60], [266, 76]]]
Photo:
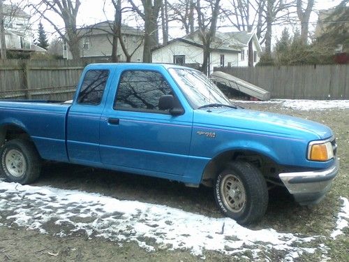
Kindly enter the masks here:
[[[149, 251], [187, 249], [202, 256], [205, 250], [222, 254], [279, 251], [283, 261], [304, 252], [326, 248], [312, 243], [318, 237], [253, 231], [228, 218], [211, 218], [165, 205], [118, 199], [77, 190], [22, 186], [0, 181], [0, 214], [3, 224], [17, 224], [59, 236], [87, 233], [116, 241], [135, 241]], [[311, 248], [304, 247], [311, 245]], [[302, 245], [302, 247], [297, 247]]]

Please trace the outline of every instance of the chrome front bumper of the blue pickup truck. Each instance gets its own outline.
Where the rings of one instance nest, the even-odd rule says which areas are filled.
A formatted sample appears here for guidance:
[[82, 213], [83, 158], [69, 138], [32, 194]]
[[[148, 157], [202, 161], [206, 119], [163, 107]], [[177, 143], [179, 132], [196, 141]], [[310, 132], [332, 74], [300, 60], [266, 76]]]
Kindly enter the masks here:
[[306, 172], [281, 173], [279, 177], [300, 205], [313, 205], [324, 198], [339, 171], [339, 161], [327, 169]]

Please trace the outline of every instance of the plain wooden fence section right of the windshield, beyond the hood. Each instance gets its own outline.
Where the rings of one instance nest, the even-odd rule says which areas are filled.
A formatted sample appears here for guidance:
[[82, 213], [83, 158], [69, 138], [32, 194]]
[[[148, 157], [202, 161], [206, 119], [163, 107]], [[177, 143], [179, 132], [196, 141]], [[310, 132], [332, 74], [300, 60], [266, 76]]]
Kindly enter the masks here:
[[349, 99], [349, 65], [215, 68], [277, 99]]

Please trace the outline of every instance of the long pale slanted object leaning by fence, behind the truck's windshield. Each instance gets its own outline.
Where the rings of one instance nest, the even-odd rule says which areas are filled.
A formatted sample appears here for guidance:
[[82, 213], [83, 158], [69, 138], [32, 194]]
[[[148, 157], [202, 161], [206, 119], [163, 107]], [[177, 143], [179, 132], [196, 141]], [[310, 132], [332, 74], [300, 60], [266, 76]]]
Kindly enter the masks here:
[[226, 87], [230, 87], [239, 92], [243, 92], [244, 94], [253, 96], [261, 101], [267, 101], [270, 99], [269, 91], [257, 87], [256, 85], [252, 85], [251, 83], [246, 82], [240, 78], [236, 78], [233, 75], [229, 75], [228, 73], [214, 71], [214, 73], [211, 74], [211, 78], [221, 85], [225, 85]]

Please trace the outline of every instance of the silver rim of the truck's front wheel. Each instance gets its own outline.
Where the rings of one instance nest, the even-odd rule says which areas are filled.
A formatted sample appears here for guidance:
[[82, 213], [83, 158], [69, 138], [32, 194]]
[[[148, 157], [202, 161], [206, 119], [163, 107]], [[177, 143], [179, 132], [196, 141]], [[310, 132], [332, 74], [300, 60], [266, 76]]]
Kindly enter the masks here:
[[221, 192], [225, 206], [232, 212], [240, 212], [246, 204], [244, 184], [236, 175], [225, 175]]

